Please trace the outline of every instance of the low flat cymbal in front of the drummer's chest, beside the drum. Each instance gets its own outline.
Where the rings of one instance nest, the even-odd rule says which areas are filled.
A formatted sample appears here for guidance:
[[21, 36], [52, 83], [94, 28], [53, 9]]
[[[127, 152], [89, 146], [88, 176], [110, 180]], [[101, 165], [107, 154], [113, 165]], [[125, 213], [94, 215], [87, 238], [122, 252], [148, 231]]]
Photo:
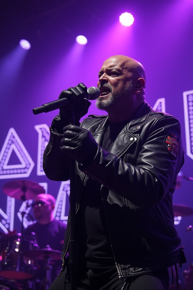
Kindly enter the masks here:
[[31, 258], [32, 260], [61, 260], [61, 252], [53, 250], [51, 248], [35, 249], [31, 251], [24, 252], [25, 257]]

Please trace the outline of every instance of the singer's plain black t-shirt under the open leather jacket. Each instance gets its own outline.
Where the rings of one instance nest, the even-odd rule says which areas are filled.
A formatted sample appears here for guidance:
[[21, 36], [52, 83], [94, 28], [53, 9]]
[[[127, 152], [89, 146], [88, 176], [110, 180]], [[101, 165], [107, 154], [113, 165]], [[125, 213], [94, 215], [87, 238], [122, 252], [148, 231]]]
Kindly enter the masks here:
[[[102, 144], [105, 150], [111, 150], [127, 123], [128, 120], [109, 124]], [[100, 188], [100, 183], [88, 179], [77, 214], [80, 263], [90, 268], [115, 267]]]

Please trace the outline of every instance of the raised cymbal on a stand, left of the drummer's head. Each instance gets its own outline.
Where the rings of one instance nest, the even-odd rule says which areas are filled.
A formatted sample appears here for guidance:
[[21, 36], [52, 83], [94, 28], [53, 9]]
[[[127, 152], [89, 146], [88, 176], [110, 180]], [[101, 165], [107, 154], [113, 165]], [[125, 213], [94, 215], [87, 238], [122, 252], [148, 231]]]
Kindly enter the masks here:
[[34, 181], [29, 180], [12, 180], [5, 183], [3, 192], [19, 200], [34, 199], [36, 195], [45, 193], [44, 188]]

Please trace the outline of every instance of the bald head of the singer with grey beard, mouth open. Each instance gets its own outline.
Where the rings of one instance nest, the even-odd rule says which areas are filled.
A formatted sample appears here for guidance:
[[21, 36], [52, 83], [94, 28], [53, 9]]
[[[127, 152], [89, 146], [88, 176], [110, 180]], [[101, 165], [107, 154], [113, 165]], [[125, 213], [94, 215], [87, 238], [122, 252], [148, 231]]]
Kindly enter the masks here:
[[145, 82], [139, 61], [125, 55], [109, 57], [99, 71], [97, 108], [105, 110], [111, 122], [129, 119], [144, 102]]

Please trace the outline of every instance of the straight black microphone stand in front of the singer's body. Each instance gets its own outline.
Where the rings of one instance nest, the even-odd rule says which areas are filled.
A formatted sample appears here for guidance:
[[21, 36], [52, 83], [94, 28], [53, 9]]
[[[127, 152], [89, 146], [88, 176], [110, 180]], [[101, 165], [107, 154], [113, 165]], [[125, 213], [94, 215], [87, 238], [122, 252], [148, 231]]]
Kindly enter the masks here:
[[[74, 125], [74, 106], [69, 112], [69, 124]], [[77, 289], [76, 273], [78, 269], [78, 240], [76, 239], [76, 160], [70, 157], [70, 247], [69, 247], [69, 266], [71, 290]]]

